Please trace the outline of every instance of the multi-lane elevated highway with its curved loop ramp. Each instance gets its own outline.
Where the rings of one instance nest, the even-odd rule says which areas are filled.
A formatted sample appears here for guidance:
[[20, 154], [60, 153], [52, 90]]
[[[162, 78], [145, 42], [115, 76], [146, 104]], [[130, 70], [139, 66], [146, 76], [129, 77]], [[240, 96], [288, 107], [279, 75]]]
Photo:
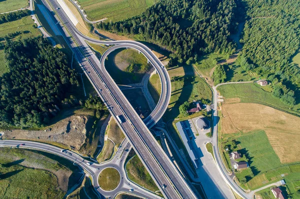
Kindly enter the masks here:
[[[65, 34], [65, 39], [75, 54], [75, 58], [87, 78], [92, 83], [98, 95], [117, 121], [116, 116], [123, 115], [125, 122], [119, 123], [120, 129], [128, 139], [132, 148], [143, 162], [157, 187], [166, 199], [196, 199], [184, 177], [179, 174], [166, 154], [160, 148], [148, 130], [165, 112], [170, 98], [170, 79], [166, 69], [159, 59], [145, 45], [136, 41], [101, 41], [82, 35], [56, 0], [42, 0], [49, 10], [55, 10], [57, 19], [61, 22], [59, 28]], [[49, 6], [49, 4], [51, 6]], [[58, 8], [58, 9], [55, 9]], [[130, 103], [112, 80], [104, 67], [104, 56], [99, 61], [85, 41], [98, 44], [130, 47], [143, 53], [148, 61], [156, 68], [161, 80], [161, 96], [153, 113], [146, 118], [145, 124], [136, 114]], [[117, 48], [113, 46], [111, 50]], [[105, 54], [105, 53], [104, 53]], [[107, 56], [108, 52], [105, 54]]]

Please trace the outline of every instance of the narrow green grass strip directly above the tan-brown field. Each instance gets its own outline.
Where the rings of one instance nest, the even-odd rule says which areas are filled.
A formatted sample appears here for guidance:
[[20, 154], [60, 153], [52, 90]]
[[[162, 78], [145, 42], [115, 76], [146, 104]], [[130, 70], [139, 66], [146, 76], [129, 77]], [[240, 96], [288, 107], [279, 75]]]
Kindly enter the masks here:
[[266, 92], [259, 87], [255, 83], [227, 84], [219, 86], [217, 90], [224, 98], [238, 97], [240, 102], [263, 104], [287, 113], [300, 115], [300, 103], [295, 106], [288, 106], [280, 99], [272, 96], [270, 92]]

